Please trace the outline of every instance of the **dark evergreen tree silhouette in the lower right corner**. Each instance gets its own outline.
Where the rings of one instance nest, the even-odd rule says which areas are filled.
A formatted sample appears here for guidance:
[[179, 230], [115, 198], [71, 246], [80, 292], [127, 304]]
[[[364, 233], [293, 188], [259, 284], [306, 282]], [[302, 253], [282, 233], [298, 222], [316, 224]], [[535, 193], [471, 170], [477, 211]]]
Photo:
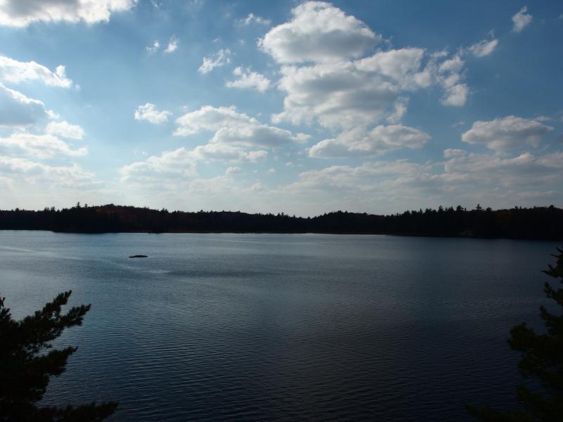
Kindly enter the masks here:
[[[551, 265], [545, 274], [563, 283], [563, 250], [557, 248], [555, 267]], [[470, 413], [482, 421], [498, 422], [560, 422], [563, 421], [563, 288], [552, 288], [545, 283], [545, 295], [557, 303], [559, 314], [552, 314], [544, 306], [540, 314], [547, 331], [537, 334], [526, 323], [510, 330], [508, 343], [513, 350], [522, 353], [518, 364], [524, 378], [517, 390], [522, 410], [500, 411], [483, 407], [469, 408]]]

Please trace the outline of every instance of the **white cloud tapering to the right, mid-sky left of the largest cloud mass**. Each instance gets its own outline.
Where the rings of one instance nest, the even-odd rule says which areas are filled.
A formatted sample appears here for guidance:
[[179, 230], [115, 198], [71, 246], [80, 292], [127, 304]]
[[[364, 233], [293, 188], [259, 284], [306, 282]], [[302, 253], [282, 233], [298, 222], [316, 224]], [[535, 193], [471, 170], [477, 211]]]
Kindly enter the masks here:
[[238, 146], [259, 146], [274, 148], [291, 143], [301, 143], [309, 136], [292, 134], [279, 127], [262, 124], [253, 117], [238, 113], [234, 106], [203, 106], [199, 110], [186, 113], [176, 120], [179, 127], [177, 136], [188, 136], [201, 131], [213, 131], [210, 143], [230, 143]]

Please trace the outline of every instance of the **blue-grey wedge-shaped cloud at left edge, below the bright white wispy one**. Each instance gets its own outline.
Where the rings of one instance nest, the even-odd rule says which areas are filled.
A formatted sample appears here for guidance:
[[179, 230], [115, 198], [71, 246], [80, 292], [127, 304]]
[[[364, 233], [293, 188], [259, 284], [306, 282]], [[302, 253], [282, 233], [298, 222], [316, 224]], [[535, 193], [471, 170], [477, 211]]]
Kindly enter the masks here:
[[0, 83], [0, 126], [27, 126], [52, 115], [42, 101], [29, 98]]

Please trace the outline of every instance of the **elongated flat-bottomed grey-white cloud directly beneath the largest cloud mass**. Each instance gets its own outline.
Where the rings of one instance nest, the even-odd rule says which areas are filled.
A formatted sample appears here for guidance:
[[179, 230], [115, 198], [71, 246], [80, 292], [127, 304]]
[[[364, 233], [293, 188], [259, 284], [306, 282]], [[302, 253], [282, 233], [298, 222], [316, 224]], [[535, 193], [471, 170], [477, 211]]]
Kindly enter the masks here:
[[309, 150], [310, 157], [336, 158], [381, 155], [402, 148], [421, 148], [430, 139], [413, 127], [402, 125], [377, 126], [368, 131], [357, 127], [343, 132], [336, 139], [324, 139]]

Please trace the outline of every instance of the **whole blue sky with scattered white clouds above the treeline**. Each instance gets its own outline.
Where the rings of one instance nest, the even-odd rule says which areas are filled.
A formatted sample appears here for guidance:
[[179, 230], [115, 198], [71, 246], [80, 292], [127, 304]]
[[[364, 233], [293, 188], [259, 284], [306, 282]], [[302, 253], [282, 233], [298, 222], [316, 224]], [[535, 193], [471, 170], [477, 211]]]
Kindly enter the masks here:
[[563, 207], [563, 2], [0, 0], [0, 208]]

